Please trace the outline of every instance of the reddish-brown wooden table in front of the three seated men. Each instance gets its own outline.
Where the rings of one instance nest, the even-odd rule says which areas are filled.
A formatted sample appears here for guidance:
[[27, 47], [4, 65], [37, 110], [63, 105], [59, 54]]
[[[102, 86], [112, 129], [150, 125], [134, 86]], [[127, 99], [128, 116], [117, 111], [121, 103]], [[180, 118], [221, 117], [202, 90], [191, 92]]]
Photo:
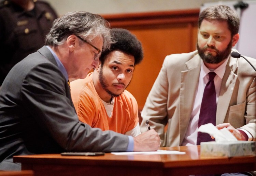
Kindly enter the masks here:
[[200, 146], [163, 147], [186, 152], [184, 155], [61, 156], [42, 154], [14, 156], [22, 170], [45, 175], [193, 175], [256, 170], [256, 155], [243, 157], [200, 157]]

